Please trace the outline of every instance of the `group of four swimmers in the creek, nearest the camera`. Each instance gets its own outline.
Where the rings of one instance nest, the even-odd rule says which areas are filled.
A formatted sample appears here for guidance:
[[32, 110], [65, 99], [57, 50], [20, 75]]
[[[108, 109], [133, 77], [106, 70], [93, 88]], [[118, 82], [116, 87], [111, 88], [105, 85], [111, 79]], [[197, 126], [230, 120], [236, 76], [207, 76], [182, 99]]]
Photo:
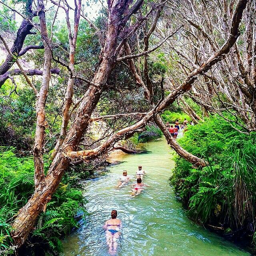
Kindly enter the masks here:
[[[132, 184], [131, 196], [134, 197], [140, 194], [144, 187], [148, 187], [148, 185], [142, 183], [143, 176], [146, 172], [142, 169], [142, 166], [138, 166], [138, 170], [136, 172], [136, 183]], [[121, 188], [124, 185], [127, 185], [131, 180], [130, 176], [128, 176], [127, 171], [123, 171], [123, 175], [119, 178], [118, 184], [116, 188]], [[103, 228], [106, 230], [106, 240], [109, 247], [109, 254], [115, 255], [117, 251], [117, 240], [121, 234], [122, 222], [117, 219], [117, 211], [112, 210], [111, 219], [107, 220], [104, 224]]]

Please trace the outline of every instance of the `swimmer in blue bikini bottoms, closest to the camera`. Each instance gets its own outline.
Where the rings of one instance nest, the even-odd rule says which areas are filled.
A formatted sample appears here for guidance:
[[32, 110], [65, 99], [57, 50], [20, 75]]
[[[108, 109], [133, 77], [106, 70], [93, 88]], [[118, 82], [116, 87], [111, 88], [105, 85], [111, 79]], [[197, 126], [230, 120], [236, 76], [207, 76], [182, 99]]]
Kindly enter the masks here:
[[109, 247], [109, 254], [116, 255], [117, 240], [121, 234], [121, 220], [117, 219], [117, 211], [112, 210], [111, 219], [107, 220], [103, 228], [106, 230], [106, 240]]

